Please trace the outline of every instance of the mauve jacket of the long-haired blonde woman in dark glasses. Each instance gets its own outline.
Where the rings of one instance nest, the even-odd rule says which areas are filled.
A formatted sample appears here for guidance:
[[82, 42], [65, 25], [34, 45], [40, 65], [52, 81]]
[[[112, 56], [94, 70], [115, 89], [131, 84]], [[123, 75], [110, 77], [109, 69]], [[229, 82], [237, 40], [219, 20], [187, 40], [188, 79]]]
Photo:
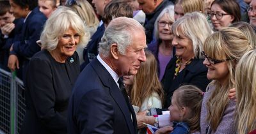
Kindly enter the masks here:
[[[204, 99], [202, 101], [202, 109], [201, 109], [201, 115], [200, 115], [200, 128], [201, 133], [205, 134], [207, 130], [207, 126], [209, 123], [206, 121], [207, 117], [207, 101], [209, 100], [209, 97], [211, 96], [211, 93], [215, 90], [214, 86], [210, 86], [208, 88], [209, 90], [204, 93]], [[234, 134], [236, 133], [236, 124], [234, 122], [234, 115], [235, 115], [235, 109], [236, 109], [236, 102], [234, 100], [228, 101], [228, 104], [226, 106], [225, 112], [223, 114], [223, 117], [220, 121], [220, 124], [217, 128], [217, 130], [211, 131], [211, 133], [219, 133], [219, 134]]]

